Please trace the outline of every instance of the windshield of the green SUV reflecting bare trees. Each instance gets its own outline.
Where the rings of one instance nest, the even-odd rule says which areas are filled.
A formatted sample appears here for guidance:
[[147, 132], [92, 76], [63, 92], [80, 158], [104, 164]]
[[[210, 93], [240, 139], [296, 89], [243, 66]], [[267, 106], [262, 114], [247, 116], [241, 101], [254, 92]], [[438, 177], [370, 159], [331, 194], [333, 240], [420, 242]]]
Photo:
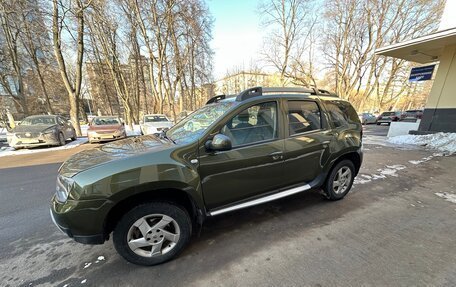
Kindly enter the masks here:
[[219, 102], [195, 111], [166, 132], [178, 144], [197, 140], [207, 128], [225, 114], [236, 102]]

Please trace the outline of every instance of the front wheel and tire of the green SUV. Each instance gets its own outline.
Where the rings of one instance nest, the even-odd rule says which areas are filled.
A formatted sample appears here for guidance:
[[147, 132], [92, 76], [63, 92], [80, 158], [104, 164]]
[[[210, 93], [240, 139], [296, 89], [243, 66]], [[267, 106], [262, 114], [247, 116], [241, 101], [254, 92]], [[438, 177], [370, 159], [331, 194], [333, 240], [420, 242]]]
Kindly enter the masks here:
[[120, 219], [113, 241], [125, 260], [152, 266], [177, 256], [191, 234], [192, 222], [184, 208], [168, 202], [151, 202], [134, 207]]

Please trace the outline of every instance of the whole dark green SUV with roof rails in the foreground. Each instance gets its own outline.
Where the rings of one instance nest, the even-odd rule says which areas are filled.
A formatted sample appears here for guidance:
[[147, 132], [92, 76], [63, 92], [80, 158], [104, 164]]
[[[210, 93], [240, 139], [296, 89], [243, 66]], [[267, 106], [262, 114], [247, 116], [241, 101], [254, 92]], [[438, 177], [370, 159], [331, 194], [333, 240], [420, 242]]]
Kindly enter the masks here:
[[71, 157], [51, 216], [77, 242], [102, 244], [112, 232], [126, 260], [159, 264], [208, 216], [317, 188], [342, 199], [362, 162], [361, 138], [353, 107], [324, 90], [217, 96], [160, 136]]

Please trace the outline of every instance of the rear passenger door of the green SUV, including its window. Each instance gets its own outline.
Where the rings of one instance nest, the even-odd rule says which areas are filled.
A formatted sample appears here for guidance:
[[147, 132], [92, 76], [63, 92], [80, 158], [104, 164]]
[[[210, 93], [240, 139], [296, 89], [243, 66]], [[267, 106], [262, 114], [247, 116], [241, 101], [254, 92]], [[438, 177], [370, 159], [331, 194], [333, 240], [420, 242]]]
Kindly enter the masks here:
[[284, 182], [309, 183], [329, 157], [332, 133], [316, 100], [287, 100], [285, 110]]

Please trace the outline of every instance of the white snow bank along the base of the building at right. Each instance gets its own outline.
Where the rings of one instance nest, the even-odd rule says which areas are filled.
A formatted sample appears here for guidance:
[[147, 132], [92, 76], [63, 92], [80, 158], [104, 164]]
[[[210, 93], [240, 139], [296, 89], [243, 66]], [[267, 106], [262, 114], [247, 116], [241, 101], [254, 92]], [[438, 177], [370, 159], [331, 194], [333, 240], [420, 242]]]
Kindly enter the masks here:
[[[420, 145], [445, 154], [456, 153], [456, 133], [435, 133], [430, 135], [402, 135], [388, 139], [396, 145]], [[418, 163], [416, 163], [418, 164]]]

